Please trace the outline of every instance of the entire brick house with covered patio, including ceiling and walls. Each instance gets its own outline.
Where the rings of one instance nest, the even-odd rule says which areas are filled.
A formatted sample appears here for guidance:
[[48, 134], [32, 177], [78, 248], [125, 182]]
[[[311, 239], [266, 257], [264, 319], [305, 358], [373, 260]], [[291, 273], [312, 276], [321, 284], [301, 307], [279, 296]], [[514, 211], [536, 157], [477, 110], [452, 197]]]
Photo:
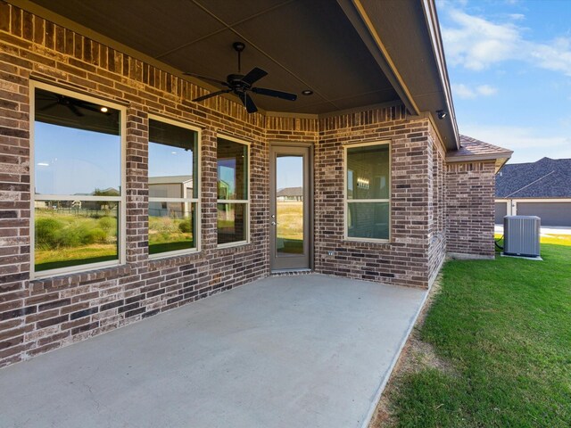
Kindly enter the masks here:
[[[0, 0], [0, 221], [13, 228], [0, 366], [284, 269], [428, 288], [446, 254], [494, 257], [494, 177], [511, 152], [460, 139], [434, 1], [247, 3]], [[235, 95], [193, 101], [226, 87], [216, 80], [236, 73], [236, 41], [247, 42], [243, 70], [269, 73], [254, 86], [297, 101], [252, 94], [252, 113]], [[78, 130], [94, 138], [70, 137]], [[74, 180], [111, 171], [120, 194], [57, 197], [117, 204], [119, 231], [103, 258], [46, 267], [38, 251], [60, 255], [35, 247], [30, 206], [53, 195], [33, 192], [29, 153], [79, 165], [58, 138], [82, 153]], [[194, 176], [196, 195], [185, 199], [182, 179], [149, 180], [149, 164], [190, 152], [176, 170]], [[277, 226], [291, 226], [277, 225], [277, 178], [291, 173], [278, 156], [303, 181], [290, 252], [277, 246]], [[150, 254], [153, 202], [192, 203], [179, 227], [196, 239], [166, 230]]]

